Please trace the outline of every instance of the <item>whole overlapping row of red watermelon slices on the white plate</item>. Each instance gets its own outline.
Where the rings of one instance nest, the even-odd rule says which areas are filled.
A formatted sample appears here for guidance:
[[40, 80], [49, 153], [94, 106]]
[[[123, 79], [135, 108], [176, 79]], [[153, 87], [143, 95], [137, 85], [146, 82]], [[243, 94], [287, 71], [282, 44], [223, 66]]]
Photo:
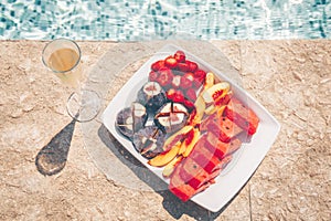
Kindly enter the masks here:
[[244, 130], [253, 135], [258, 123], [255, 113], [236, 98], [231, 99], [224, 116], [216, 113], [207, 116], [200, 125], [203, 136], [191, 154], [174, 169], [170, 179], [170, 191], [182, 201], [188, 201], [214, 183], [214, 178], [232, 160], [233, 152], [242, 146], [237, 135]]

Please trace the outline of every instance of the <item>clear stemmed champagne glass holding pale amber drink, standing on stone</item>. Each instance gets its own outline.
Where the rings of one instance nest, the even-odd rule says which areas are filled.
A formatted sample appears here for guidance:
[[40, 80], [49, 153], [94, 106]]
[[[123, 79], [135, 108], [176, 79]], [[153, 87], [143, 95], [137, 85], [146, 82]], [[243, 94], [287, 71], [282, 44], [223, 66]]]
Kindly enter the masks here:
[[44, 65], [64, 84], [75, 88], [66, 103], [71, 117], [77, 122], [89, 122], [100, 110], [100, 97], [92, 90], [82, 87], [84, 74], [81, 63], [81, 49], [68, 39], [56, 39], [47, 43], [42, 53]]

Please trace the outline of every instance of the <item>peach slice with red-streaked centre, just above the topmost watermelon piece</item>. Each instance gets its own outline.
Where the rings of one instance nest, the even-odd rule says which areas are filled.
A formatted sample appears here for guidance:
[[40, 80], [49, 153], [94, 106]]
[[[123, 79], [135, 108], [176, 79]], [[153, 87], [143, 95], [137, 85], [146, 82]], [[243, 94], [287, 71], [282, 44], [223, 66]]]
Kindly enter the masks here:
[[227, 82], [221, 82], [218, 84], [214, 84], [212, 87], [203, 92], [202, 97], [205, 103], [212, 103], [221, 97], [224, 97], [229, 91], [229, 84]]

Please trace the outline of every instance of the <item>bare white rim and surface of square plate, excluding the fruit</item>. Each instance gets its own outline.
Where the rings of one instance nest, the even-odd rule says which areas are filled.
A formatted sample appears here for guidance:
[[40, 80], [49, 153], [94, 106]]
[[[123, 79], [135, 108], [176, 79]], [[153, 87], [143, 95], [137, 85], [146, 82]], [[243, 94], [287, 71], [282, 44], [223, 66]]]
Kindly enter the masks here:
[[[148, 165], [148, 160], [136, 151], [131, 141], [124, 138], [116, 130], [115, 122], [117, 113], [120, 109], [130, 106], [130, 104], [136, 99], [138, 91], [148, 81], [148, 74], [150, 72], [151, 64], [158, 60], [166, 59], [168, 55], [174, 54], [178, 50], [182, 49], [172, 44], [168, 44], [151, 59], [149, 59], [117, 93], [103, 114], [104, 125], [124, 146], [124, 148], [131, 152], [132, 156], [140, 160], [148, 169], [154, 172], [167, 183], [169, 183], [169, 180], [162, 177], [162, 168], [156, 168]], [[190, 54], [185, 50], [182, 51], [185, 52], [189, 60], [196, 62], [201, 69], [213, 72], [221, 80], [229, 82], [235, 96], [238, 97], [249, 108], [252, 108], [260, 120], [257, 131], [253, 135], [249, 143], [244, 143], [241, 149], [234, 154], [234, 158], [231, 164], [216, 178], [216, 183], [212, 185], [205, 191], [197, 193], [191, 199], [205, 209], [216, 212], [221, 210], [241, 190], [241, 188], [247, 182], [249, 177], [257, 169], [258, 165], [261, 162], [267, 151], [274, 144], [279, 133], [280, 125], [266, 108], [264, 108], [247, 92], [236, 85], [231, 78], [220, 73], [201, 59]]]

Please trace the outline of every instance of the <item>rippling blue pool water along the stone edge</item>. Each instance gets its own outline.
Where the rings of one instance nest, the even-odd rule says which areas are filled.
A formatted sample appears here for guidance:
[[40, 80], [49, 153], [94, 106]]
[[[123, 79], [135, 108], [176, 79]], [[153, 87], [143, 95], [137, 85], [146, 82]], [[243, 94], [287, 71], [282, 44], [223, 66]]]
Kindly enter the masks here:
[[0, 40], [330, 39], [331, 0], [0, 0]]

